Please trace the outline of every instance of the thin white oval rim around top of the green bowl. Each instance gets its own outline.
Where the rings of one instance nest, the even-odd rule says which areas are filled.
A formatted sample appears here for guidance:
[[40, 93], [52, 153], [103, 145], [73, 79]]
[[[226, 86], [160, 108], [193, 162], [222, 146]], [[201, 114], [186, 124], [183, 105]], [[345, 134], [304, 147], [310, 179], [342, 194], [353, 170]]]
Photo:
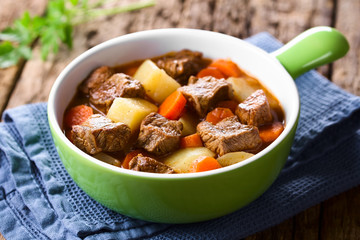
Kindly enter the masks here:
[[[116, 166], [113, 166], [111, 164], [108, 164], [101, 160], [96, 159], [95, 157], [81, 151], [78, 147], [76, 147], [74, 144], [72, 144], [70, 142], [70, 140], [63, 133], [63, 131], [60, 127], [60, 124], [57, 121], [56, 112], [55, 112], [55, 99], [56, 99], [56, 95], [58, 92], [57, 90], [59, 89], [62, 81], [66, 78], [66, 76], [69, 74], [69, 72], [73, 68], [76, 68], [76, 66], [79, 65], [84, 59], [88, 58], [89, 56], [91, 56], [93, 54], [96, 54], [97, 52], [100, 52], [104, 48], [108, 48], [113, 45], [119, 45], [122, 42], [131, 41], [134, 39], [139, 39], [139, 38], [146, 39], [146, 36], [151, 36], [151, 35], [156, 35], [156, 34], [160, 34], [160, 35], [161, 34], [171, 34], [174, 32], [187, 33], [187, 34], [189, 34], [189, 33], [191, 33], [191, 34], [209, 34], [209, 36], [213, 34], [213, 36], [220, 35], [221, 37], [224, 37], [224, 38], [234, 39], [239, 42], [242, 42], [242, 44], [247, 45], [247, 47], [252, 48], [252, 50], [256, 51], [259, 55], [262, 55], [263, 57], [268, 58], [271, 61], [274, 61], [274, 63], [279, 66], [279, 68], [276, 69], [276, 71], [283, 71], [283, 74], [288, 76], [288, 78], [289, 78], [288, 80], [291, 80], [290, 84], [293, 85], [293, 88], [295, 89], [294, 94], [296, 94], [296, 96], [294, 96], [295, 102], [294, 102], [294, 106], [293, 106], [294, 111], [296, 111], [296, 116], [291, 119], [286, 119], [286, 125], [284, 128], [284, 131], [280, 134], [280, 136], [274, 142], [272, 142], [269, 146], [267, 146], [265, 149], [260, 151], [259, 153], [255, 154], [254, 156], [252, 156], [248, 159], [245, 159], [239, 163], [235, 163], [230, 166], [222, 167], [222, 168], [215, 169], [215, 170], [205, 171], [205, 172], [183, 173], [183, 174], [148, 173], [148, 172], [132, 171], [132, 170], [124, 169], [121, 167], [116, 167]], [[284, 81], [288, 81], [288, 80], [284, 80]], [[300, 97], [299, 97], [299, 93], [298, 93], [298, 90], [295, 85], [295, 81], [292, 79], [292, 77], [286, 71], [286, 69], [281, 65], [281, 63], [276, 59], [276, 57], [274, 57], [271, 53], [267, 53], [264, 50], [262, 50], [261, 48], [254, 46], [242, 39], [239, 39], [239, 38], [236, 38], [236, 37], [233, 37], [230, 35], [218, 33], [218, 32], [213, 32], [213, 31], [208, 31], [208, 30], [200, 30], [200, 29], [190, 29], [190, 28], [163, 28], [163, 29], [144, 30], [144, 31], [129, 33], [126, 35], [115, 37], [115, 38], [112, 38], [105, 42], [102, 42], [102, 43], [94, 46], [93, 48], [83, 52], [79, 56], [77, 56], [61, 71], [59, 76], [56, 78], [56, 80], [51, 88], [49, 97], [48, 97], [47, 113], [48, 113], [49, 125], [50, 125], [50, 128], [52, 128], [52, 131], [51, 131], [52, 134], [56, 134], [59, 137], [59, 139], [69, 149], [74, 151], [78, 156], [92, 162], [93, 164], [95, 164], [97, 166], [103, 167], [107, 170], [110, 170], [110, 171], [116, 173], [116, 174], [124, 174], [124, 175], [133, 176], [133, 177], [150, 178], [150, 179], [167, 179], [167, 180], [189, 179], [189, 178], [192, 179], [192, 178], [204, 178], [204, 177], [209, 177], [212, 175], [219, 175], [219, 174], [224, 174], [226, 172], [234, 171], [238, 168], [241, 168], [244, 165], [248, 165], [248, 164], [264, 157], [266, 154], [273, 151], [276, 147], [278, 147], [278, 145], [281, 142], [283, 142], [285, 140], [285, 138], [289, 135], [289, 133], [294, 128], [296, 128], [297, 121], [300, 116]]]

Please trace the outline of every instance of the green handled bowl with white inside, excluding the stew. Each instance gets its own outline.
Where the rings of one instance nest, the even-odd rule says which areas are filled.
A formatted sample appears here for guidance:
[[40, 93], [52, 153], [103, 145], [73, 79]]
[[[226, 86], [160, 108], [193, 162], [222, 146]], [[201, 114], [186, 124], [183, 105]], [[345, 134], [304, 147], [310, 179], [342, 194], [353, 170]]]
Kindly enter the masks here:
[[[348, 50], [346, 39], [329, 27], [308, 30], [289, 44], [268, 54], [220, 33], [161, 29], [124, 35], [86, 51], [62, 71], [48, 101], [51, 133], [65, 168], [90, 197], [116, 212], [142, 220], [190, 223], [242, 208], [269, 188], [290, 152], [300, 112], [293, 77], [333, 61]], [[167, 175], [109, 165], [82, 152], [65, 137], [61, 129], [64, 111], [78, 84], [94, 68], [184, 48], [201, 51], [209, 58], [231, 58], [257, 77], [283, 106], [286, 127], [278, 139], [255, 156], [228, 167]]]

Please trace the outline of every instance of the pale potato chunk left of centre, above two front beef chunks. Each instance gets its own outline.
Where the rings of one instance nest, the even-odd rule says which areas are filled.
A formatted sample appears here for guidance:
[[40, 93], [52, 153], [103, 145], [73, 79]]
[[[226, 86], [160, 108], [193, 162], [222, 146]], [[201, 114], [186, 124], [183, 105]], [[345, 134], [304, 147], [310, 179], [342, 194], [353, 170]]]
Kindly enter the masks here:
[[115, 98], [107, 117], [114, 122], [127, 124], [131, 131], [140, 128], [141, 121], [151, 112], [156, 112], [157, 106], [140, 98]]

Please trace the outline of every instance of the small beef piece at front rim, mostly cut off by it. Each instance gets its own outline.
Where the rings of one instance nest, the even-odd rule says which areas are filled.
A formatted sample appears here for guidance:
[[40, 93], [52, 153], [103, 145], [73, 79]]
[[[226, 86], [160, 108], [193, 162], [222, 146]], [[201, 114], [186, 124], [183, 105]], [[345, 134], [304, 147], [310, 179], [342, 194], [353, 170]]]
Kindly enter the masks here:
[[129, 162], [129, 169], [151, 173], [175, 173], [175, 171], [168, 165], [151, 157], [145, 157], [142, 154], [138, 154], [133, 159], [131, 159]]

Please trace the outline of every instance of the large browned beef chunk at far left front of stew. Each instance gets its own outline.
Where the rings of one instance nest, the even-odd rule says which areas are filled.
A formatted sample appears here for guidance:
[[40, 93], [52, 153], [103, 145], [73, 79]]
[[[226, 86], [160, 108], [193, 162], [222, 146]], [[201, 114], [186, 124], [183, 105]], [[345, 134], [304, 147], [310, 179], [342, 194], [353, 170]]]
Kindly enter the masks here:
[[71, 139], [81, 150], [96, 154], [101, 151], [116, 152], [125, 148], [131, 130], [124, 123], [114, 123], [100, 114], [93, 114], [81, 125], [71, 129]]

